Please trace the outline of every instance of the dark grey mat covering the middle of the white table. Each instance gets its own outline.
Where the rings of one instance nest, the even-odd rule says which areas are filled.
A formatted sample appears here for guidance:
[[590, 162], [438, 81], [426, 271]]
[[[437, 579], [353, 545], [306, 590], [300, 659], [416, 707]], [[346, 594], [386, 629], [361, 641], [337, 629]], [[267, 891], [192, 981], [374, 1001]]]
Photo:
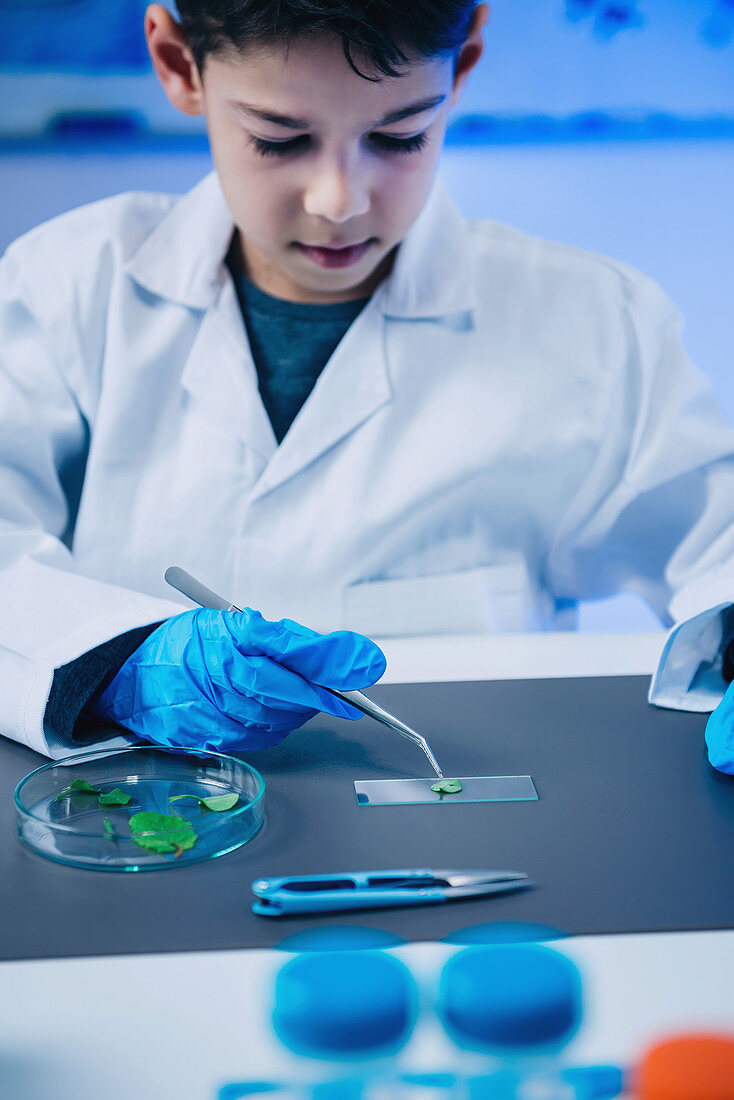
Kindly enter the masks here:
[[[15, 836], [12, 791], [43, 758], [0, 739], [0, 957], [267, 947], [327, 924], [437, 939], [527, 921], [568, 934], [734, 926], [734, 778], [705, 757], [705, 715], [646, 702], [646, 676], [392, 684], [370, 694], [430, 740], [446, 774], [530, 774], [539, 800], [359, 806], [354, 779], [424, 776], [369, 718], [319, 717], [244, 758], [266, 822], [208, 864], [123, 875], [42, 859]], [[250, 911], [262, 876], [387, 867], [507, 868], [534, 890], [331, 917]]]

